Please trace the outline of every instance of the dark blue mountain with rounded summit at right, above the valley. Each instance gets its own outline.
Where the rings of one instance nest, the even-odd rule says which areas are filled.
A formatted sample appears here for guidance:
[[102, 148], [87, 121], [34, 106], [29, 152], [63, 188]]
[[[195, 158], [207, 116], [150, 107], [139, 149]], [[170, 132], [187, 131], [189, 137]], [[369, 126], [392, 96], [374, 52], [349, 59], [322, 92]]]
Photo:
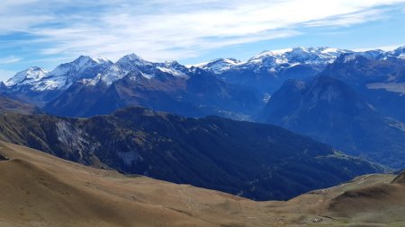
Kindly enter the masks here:
[[405, 164], [405, 125], [332, 77], [287, 81], [257, 119], [393, 168]]

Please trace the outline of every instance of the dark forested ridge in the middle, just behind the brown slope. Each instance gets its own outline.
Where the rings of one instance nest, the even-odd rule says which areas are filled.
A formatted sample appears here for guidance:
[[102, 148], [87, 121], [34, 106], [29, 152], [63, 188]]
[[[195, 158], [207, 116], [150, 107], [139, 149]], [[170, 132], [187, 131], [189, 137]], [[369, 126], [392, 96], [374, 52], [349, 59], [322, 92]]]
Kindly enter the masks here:
[[141, 108], [93, 118], [7, 113], [0, 138], [98, 168], [257, 200], [288, 199], [383, 170], [281, 127]]

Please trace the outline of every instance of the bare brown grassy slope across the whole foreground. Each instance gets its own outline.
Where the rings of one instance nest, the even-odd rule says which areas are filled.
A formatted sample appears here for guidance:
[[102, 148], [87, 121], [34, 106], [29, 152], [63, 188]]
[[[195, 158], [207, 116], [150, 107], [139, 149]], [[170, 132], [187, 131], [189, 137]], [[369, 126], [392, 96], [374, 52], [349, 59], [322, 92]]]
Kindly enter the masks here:
[[[356, 196], [347, 196], [354, 192], [387, 186], [388, 191], [396, 188], [393, 193], [405, 191], [403, 174], [396, 179], [373, 174], [287, 202], [255, 202], [188, 185], [125, 177], [4, 142], [0, 142], [0, 155], [9, 158], [0, 161], [2, 227], [354, 226], [353, 222], [369, 226], [370, 220], [359, 210], [352, 210], [350, 216], [337, 214], [342, 196], [354, 205]], [[387, 214], [374, 223], [405, 223], [404, 217], [390, 216], [393, 208], [405, 206], [403, 199], [392, 203], [392, 199], [377, 195], [359, 201], [364, 204], [373, 199], [379, 200], [379, 208]]]

